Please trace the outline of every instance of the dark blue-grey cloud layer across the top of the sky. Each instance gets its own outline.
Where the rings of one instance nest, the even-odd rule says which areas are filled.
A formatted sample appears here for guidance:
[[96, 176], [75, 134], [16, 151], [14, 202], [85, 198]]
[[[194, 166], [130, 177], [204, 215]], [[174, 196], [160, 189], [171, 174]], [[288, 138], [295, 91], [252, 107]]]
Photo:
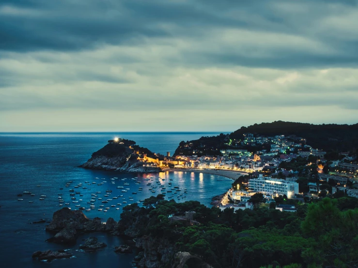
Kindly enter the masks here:
[[[195, 51], [197, 57], [193, 58], [190, 50], [184, 51], [184, 61], [190, 58], [197, 60], [193, 64], [273, 68], [352, 66], [358, 62], [358, 37], [338, 37], [339, 25], [336, 29], [323, 25], [331, 16], [358, 12], [356, 0], [3, 0], [0, 11], [2, 51], [76, 51], [105, 44], [138, 45], [143, 38], [163, 37], [210, 42], [207, 35], [212, 30], [236, 29], [256, 32], [260, 43], [265, 43], [260, 39], [262, 32], [280, 33], [316, 42], [330, 52], [319, 53], [319, 47], [314, 51], [311, 47], [301, 49], [300, 44], [284, 49], [266, 44], [266, 52], [273, 57], [255, 59], [225, 51], [220, 40], [212, 36], [212, 43], [222, 46], [220, 52]], [[358, 21], [352, 21], [355, 23]], [[237, 39], [231, 45], [239, 50], [242, 41]], [[261, 48], [254, 42], [252, 47]]]

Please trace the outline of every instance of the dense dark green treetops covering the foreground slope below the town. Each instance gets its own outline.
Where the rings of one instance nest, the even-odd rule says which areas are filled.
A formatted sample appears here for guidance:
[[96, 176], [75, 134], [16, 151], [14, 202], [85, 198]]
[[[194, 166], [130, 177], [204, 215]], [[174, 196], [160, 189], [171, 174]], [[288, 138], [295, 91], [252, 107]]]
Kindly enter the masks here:
[[[357, 198], [324, 198], [300, 205], [297, 212], [268, 208], [221, 211], [197, 201], [166, 201], [162, 195], [146, 199], [143, 206], [124, 208], [123, 229], [133, 228], [139, 237], [169, 241], [176, 251], [199, 256], [214, 268], [358, 267]], [[170, 221], [170, 216], [189, 210], [196, 211], [194, 220], [200, 224]], [[162, 267], [170, 265], [163, 263]]]

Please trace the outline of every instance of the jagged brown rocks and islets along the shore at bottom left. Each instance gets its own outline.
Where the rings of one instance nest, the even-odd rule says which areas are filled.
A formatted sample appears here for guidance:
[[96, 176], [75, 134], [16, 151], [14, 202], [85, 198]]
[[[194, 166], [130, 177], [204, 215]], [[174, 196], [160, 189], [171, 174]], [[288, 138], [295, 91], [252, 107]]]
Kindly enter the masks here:
[[[132, 253], [136, 248], [139, 253], [135, 256], [133, 264], [137, 268], [157, 268], [168, 264], [168, 267], [171, 268], [184, 268], [190, 258], [195, 258], [197, 261], [202, 262], [200, 258], [190, 253], [177, 252], [175, 245], [165, 238], [140, 236], [138, 231], [136, 232], [138, 221], [140, 219], [129, 224], [125, 223], [124, 226], [121, 222], [116, 222], [113, 218], [109, 218], [106, 223], [102, 223], [100, 218], [94, 218], [93, 220], [87, 218], [81, 210], [62, 208], [54, 212], [52, 221], [46, 226], [46, 231], [54, 234], [47, 241], [73, 244], [80, 233], [107, 232], [110, 235], [129, 238], [135, 242], [134, 245], [133, 242], [128, 242], [125, 245], [116, 246], [113, 249], [113, 253]], [[84, 240], [79, 249], [85, 252], [93, 252], [106, 246], [105, 243], [99, 242], [96, 237], [90, 237]], [[32, 254], [32, 258], [47, 262], [71, 257], [73, 257], [72, 253], [65, 251], [47, 250], [44, 252], [36, 251]], [[202, 267], [210, 267], [204, 262], [202, 264]]]

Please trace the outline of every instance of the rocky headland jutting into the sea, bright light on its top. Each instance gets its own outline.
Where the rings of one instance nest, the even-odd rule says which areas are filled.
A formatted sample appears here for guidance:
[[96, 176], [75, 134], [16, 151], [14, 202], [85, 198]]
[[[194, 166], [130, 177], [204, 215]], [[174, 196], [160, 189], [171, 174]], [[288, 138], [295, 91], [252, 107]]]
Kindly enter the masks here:
[[109, 143], [94, 152], [91, 158], [80, 167], [89, 169], [107, 169], [125, 172], [158, 172], [159, 167], [146, 166], [138, 160], [140, 154], [155, 157], [155, 154], [146, 148], [135, 145], [134, 141], [120, 139], [109, 140]]

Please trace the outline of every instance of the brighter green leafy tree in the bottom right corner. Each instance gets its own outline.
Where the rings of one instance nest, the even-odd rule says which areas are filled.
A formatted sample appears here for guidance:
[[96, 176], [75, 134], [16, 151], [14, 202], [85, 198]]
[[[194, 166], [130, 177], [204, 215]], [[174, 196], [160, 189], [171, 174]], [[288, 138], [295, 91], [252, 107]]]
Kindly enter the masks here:
[[318, 267], [357, 267], [358, 209], [344, 212], [337, 199], [324, 198], [309, 205], [302, 232], [316, 242], [302, 253], [308, 264]]

